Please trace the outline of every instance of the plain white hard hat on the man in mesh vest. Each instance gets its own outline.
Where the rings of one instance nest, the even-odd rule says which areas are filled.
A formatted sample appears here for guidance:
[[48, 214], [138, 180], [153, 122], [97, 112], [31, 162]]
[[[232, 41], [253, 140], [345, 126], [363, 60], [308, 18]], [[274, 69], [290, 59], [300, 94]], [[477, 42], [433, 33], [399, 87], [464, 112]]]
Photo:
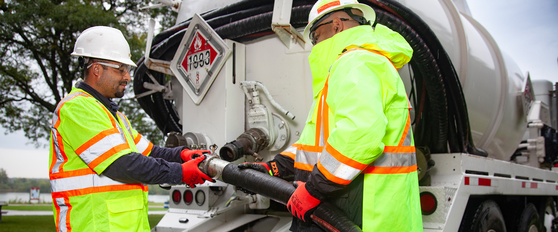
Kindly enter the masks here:
[[137, 67], [130, 46], [119, 29], [96, 26], [85, 29], [75, 40], [73, 56], [99, 58]]

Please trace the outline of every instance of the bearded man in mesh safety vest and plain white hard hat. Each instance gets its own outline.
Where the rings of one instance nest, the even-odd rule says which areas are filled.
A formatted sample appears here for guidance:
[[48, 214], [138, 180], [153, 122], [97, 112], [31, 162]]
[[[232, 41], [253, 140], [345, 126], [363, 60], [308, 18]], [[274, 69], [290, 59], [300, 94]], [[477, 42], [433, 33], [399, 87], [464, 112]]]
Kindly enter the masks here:
[[79, 57], [84, 80], [52, 116], [49, 176], [56, 231], [150, 231], [145, 184], [195, 187], [213, 181], [198, 169], [209, 151], [153, 145], [118, 111], [110, 98], [124, 95], [136, 67], [121, 31], [88, 28], [71, 55]]

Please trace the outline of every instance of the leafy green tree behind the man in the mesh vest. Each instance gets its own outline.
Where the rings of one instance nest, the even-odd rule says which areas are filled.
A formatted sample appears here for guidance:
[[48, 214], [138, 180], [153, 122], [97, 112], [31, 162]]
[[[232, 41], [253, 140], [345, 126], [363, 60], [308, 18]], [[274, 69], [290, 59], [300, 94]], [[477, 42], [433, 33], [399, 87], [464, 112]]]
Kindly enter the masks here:
[[[81, 31], [92, 26], [120, 29], [127, 38], [132, 60], [145, 49], [147, 17], [166, 15], [169, 9], [139, 12], [148, 0], [0, 0], [0, 124], [9, 132], [23, 130], [40, 146], [50, 136], [52, 112], [81, 75], [70, 54]], [[128, 85], [131, 88], [132, 85]], [[137, 102], [121, 101], [132, 126], [154, 144], [161, 131]]]

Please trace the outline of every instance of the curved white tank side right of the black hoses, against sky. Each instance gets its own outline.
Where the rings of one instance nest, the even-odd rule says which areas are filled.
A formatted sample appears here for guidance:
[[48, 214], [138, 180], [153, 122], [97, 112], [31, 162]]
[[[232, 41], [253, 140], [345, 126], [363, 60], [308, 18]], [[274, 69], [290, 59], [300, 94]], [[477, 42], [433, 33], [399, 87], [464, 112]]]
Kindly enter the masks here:
[[487, 150], [488, 157], [509, 160], [527, 126], [525, 115], [518, 113], [522, 112], [518, 96], [525, 76], [470, 16], [466, 1], [401, 3], [429, 25], [451, 57], [463, 87], [475, 146]]

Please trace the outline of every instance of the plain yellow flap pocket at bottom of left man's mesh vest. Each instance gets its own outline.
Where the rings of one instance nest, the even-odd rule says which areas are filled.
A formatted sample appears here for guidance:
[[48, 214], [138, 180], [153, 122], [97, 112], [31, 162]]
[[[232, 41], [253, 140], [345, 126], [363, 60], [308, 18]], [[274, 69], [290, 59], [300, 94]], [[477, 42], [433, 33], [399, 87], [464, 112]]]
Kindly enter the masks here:
[[143, 196], [107, 200], [110, 231], [142, 231]]

